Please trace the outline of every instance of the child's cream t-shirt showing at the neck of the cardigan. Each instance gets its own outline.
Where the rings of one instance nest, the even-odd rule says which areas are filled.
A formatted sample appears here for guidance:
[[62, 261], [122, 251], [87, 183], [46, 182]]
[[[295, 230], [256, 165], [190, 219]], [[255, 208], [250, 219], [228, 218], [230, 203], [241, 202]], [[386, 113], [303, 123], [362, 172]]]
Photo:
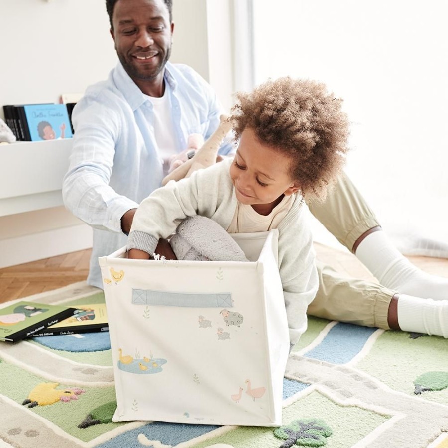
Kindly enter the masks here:
[[253, 207], [238, 202], [233, 220], [229, 225], [228, 233], [267, 232], [277, 228], [288, 214], [294, 203], [294, 197], [284, 196], [269, 215], [260, 215]]

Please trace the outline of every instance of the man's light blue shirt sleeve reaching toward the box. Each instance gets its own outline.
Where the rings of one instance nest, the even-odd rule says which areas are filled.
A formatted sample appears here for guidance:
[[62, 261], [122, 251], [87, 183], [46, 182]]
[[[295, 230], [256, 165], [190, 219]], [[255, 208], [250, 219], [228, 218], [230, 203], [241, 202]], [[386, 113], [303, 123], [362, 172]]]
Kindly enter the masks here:
[[119, 135], [118, 112], [85, 97], [73, 110], [73, 123], [76, 132], [63, 181], [64, 204], [95, 228], [121, 232], [121, 217], [138, 204], [109, 186]]

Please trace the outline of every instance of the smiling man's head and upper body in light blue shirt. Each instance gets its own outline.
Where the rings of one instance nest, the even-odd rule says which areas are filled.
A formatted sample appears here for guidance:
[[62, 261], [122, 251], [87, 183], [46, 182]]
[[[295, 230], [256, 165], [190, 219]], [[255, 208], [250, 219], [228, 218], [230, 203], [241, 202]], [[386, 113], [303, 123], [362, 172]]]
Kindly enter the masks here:
[[[106, 9], [119, 62], [73, 110], [63, 184], [66, 207], [94, 228], [88, 283], [100, 288], [98, 257], [126, 244], [136, 207], [160, 187], [169, 158], [187, 148], [188, 135], [206, 140], [225, 112], [200, 75], [168, 61], [171, 0], [107, 0]], [[227, 141], [220, 154], [232, 150]]]

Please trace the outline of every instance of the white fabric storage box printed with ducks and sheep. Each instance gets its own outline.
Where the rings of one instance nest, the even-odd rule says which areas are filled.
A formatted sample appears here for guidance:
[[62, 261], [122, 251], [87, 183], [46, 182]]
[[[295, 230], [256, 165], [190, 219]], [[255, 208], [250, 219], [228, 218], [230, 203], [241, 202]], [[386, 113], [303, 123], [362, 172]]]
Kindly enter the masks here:
[[278, 231], [233, 235], [250, 260], [100, 257], [113, 421], [279, 426], [289, 332]]

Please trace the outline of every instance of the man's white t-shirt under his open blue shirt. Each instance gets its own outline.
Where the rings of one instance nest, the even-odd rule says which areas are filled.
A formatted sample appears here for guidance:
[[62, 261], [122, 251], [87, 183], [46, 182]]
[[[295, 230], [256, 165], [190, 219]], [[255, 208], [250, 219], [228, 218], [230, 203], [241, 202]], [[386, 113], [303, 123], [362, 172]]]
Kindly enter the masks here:
[[154, 108], [154, 137], [157, 143], [159, 157], [163, 163], [163, 172], [166, 176], [168, 174], [169, 159], [172, 155], [177, 154], [168, 89], [165, 89], [162, 97], [144, 96], [152, 103]]

